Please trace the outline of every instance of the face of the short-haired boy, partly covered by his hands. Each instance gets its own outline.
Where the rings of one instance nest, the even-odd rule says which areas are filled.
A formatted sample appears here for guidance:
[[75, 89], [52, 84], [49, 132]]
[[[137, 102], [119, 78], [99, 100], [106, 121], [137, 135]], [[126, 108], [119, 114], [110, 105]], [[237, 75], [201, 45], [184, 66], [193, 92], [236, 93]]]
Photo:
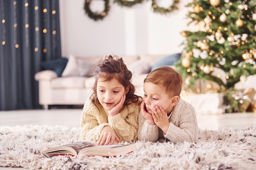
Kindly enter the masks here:
[[152, 114], [155, 106], [162, 107], [167, 114], [173, 110], [173, 106], [171, 105], [173, 97], [169, 97], [162, 86], [145, 82], [144, 93], [143, 99], [148, 113]]

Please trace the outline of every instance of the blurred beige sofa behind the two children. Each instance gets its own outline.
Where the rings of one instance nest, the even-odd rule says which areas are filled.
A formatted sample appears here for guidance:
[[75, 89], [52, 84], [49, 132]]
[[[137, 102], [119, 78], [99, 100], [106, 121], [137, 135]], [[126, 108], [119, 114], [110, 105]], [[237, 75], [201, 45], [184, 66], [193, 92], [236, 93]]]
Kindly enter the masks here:
[[[128, 69], [132, 71], [132, 83], [136, 94], [143, 96], [143, 81], [151, 66], [167, 55], [132, 55], [122, 57]], [[35, 75], [39, 83], [39, 104], [48, 109], [49, 105], [83, 105], [92, 94], [94, 77], [81, 76], [79, 64], [89, 68], [103, 59], [102, 56], [70, 56], [61, 77], [52, 70], [43, 70]]]

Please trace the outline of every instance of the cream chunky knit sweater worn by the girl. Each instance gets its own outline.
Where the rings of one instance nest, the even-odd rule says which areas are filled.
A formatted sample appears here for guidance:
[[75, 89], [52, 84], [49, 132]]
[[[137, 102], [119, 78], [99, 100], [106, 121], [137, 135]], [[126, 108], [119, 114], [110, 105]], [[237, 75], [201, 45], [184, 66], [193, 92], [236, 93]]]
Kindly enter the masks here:
[[[141, 101], [141, 99], [140, 99]], [[87, 99], [81, 114], [81, 139], [98, 141], [104, 126], [110, 126], [122, 141], [137, 139], [139, 102], [124, 105], [114, 117], [108, 117], [108, 110], [101, 104], [95, 106], [91, 99]]]

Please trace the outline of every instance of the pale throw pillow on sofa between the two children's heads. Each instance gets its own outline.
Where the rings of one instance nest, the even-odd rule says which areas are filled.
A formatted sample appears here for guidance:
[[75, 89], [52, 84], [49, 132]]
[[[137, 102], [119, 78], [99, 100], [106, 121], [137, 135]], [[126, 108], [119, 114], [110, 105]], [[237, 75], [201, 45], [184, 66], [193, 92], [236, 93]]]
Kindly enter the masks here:
[[135, 75], [149, 73], [150, 68], [151, 68], [150, 63], [144, 62], [142, 60], [137, 60], [136, 62], [128, 66], [128, 69]]

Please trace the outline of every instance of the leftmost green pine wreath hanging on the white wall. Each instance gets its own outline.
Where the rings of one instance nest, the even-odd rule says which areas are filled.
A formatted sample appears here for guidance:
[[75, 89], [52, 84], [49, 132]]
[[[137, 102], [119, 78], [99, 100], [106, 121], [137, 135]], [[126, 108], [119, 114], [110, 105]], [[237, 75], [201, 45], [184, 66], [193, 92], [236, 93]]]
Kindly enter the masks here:
[[106, 15], [108, 15], [108, 11], [109, 11], [109, 0], [103, 0], [105, 1], [105, 8], [104, 11], [102, 11], [101, 13], [93, 13], [90, 9], [90, 3], [91, 0], [85, 0], [85, 4], [84, 4], [84, 9], [85, 9], [85, 13], [92, 18], [93, 20], [97, 21], [97, 20], [102, 20]]

